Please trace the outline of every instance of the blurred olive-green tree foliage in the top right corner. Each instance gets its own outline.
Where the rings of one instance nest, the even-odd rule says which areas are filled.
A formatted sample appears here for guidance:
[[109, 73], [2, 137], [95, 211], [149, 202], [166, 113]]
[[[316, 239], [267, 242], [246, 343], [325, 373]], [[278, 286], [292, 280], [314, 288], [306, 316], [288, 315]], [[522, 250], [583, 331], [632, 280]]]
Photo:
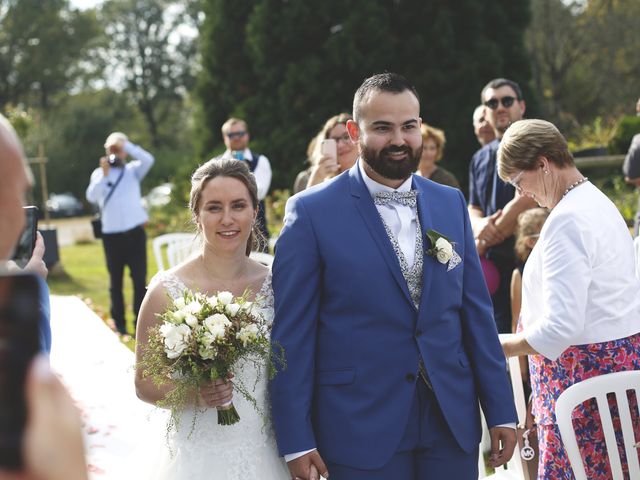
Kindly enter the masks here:
[[633, 111], [640, 75], [640, 3], [532, 0], [527, 32], [543, 115], [578, 134], [603, 117]]

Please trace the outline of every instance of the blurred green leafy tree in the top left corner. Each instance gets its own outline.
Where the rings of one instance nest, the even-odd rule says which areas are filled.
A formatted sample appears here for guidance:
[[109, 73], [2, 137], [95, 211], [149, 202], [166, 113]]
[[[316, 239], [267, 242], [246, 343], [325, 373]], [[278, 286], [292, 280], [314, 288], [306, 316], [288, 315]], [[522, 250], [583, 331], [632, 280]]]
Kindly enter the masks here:
[[68, 0], [1, 1], [0, 109], [47, 110], [56, 94], [99, 73], [86, 62], [99, 35], [95, 12], [73, 10]]

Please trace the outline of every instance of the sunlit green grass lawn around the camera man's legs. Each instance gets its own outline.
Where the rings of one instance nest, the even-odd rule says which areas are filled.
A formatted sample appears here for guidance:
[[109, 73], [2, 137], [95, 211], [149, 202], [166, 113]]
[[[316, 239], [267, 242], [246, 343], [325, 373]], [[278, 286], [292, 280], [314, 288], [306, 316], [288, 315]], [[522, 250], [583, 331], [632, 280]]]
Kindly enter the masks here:
[[[101, 241], [79, 243], [60, 248], [60, 266], [53, 268], [47, 283], [54, 295], [81, 297], [103, 320], [109, 315], [109, 274]], [[147, 281], [156, 273], [151, 241], [147, 244]], [[133, 333], [133, 289], [129, 271], [125, 269], [124, 299], [127, 328]], [[133, 341], [127, 342], [131, 347]]]

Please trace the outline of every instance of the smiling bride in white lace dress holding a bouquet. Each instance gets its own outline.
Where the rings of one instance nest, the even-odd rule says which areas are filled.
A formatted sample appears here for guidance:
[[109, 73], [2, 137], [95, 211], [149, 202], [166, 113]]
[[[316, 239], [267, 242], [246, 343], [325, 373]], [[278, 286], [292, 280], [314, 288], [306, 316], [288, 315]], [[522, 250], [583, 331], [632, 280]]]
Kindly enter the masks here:
[[[248, 289], [249, 300], [256, 300], [261, 313], [273, 320], [270, 271], [248, 256], [254, 241], [258, 196], [255, 179], [245, 163], [214, 159], [198, 168], [191, 179], [189, 207], [202, 235], [202, 250], [151, 281], [138, 318], [136, 366], [145, 355], [148, 329], [160, 322], [157, 314], [166, 310], [169, 298], [182, 296], [185, 289], [207, 295], [226, 290], [234, 296]], [[252, 386], [257, 372], [247, 363], [239, 375], [245, 385]], [[262, 372], [252, 395], [261, 410], [268, 412], [265, 376]], [[138, 397], [151, 404], [162, 400], [172, 388], [158, 388], [149, 378], [142, 378], [140, 368], [136, 369], [135, 385]], [[218, 425], [215, 407], [232, 398], [240, 421]], [[196, 409], [200, 413], [194, 424]], [[168, 441], [162, 440], [162, 453], [154, 453], [161, 458], [154, 459], [152, 471], [145, 472], [148, 478], [290, 478], [284, 460], [278, 456], [271, 426], [265, 426], [254, 407], [242, 395], [234, 396], [231, 383], [221, 379], [193, 392], [191, 405], [181, 413], [177, 429], [170, 432]]]

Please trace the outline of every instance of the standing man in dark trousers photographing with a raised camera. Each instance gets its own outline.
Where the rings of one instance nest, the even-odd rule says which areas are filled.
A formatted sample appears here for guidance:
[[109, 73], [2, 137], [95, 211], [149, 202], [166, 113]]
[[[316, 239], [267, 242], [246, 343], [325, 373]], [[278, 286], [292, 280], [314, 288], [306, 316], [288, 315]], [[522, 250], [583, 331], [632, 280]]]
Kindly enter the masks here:
[[[111, 317], [116, 329], [127, 334], [122, 277], [128, 266], [133, 283], [134, 324], [144, 298], [147, 282], [147, 236], [144, 224], [149, 217], [142, 207], [140, 182], [149, 172], [154, 158], [130, 142], [121, 132], [105, 141], [106, 155], [91, 174], [86, 197], [100, 207], [102, 244], [109, 270]], [[127, 156], [133, 161], [127, 162]]]

